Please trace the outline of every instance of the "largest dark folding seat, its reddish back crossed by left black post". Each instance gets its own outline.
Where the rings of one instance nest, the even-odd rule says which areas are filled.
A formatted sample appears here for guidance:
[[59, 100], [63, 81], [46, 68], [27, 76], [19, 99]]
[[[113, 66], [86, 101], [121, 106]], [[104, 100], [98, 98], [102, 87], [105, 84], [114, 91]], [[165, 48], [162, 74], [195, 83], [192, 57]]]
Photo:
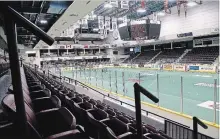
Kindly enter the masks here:
[[[2, 100], [4, 113], [14, 122], [16, 119], [16, 106], [14, 95], [8, 94]], [[66, 108], [55, 108], [34, 114], [32, 108], [25, 103], [27, 122], [41, 137], [48, 137], [57, 133], [76, 130], [75, 117]], [[36, 135], [36, 133], [35, 133]]]

